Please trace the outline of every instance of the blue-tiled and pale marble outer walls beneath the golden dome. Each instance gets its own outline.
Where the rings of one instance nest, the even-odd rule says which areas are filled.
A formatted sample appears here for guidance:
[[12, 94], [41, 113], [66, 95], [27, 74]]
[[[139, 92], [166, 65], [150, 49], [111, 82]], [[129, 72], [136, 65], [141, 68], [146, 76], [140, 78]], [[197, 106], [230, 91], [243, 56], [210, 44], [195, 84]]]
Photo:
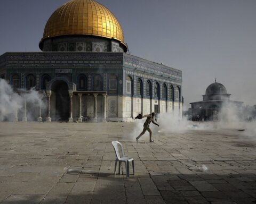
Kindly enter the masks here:
[[[143, 100], [133, 101], [132, 98], [134, 100], [135, 98], [145, 98], [152, 101], [149, 103], [151, 104], [150, 107], [144, 108], [144, 112], [146, 110], [155, 111], [155, 105], [159, 106], [158, 112], [161, 113], [171, 112], [175, 107], [178, 107], [179, 112], [181, 111], [182, 72], [126, 53], [5, 53], [0, 56], [0, 62], [2, 63], [0, 70], [3, 70], [4, 78], [13, 85], [13, 76], [18, 75], [19, 88], [21, 89], [30, 88], [27, 84], [28, 75], [34, 76], [35, 88], [41, 91], [50, 91], [52, 84], [58, 80], [65, 81], [69, 91], [95, 91], [95, 86], [99, 86], [97, 91], [105, 91], [108, 96], [106, 105], [109, 121], [127, 121], [128, 116], [133, 117], [139, 112], [143, 113]], [[45, 75], [49, 76], [50, 81], [45, 84], [45, 89], [43, 89]], [[83, 82], [86, 83], [85, 89], [79, 89], [79, 77], [81, 75], [85, 79]], [[126, 91], [127, 76], [132, 79], [131, 94], [127, 94]], [[98, 80], [97, 78], [99, 81], [95, 81]], [[135, 90], [138, 79], [141, 80], [140, 95]], [[151, 83], [151, 88], [148, 90], [149, 96], [146, 95], [146, 83], [148, 82]], [[156, 84], [159, 86], [158, 95], [154, 92]], [[165, 84], [166, 90], [163, 90], [163, 84]], [[170, 97], [170, 86], [173, 87], [173, 97]], [[179, 89], [178, 97], [175, 97], [175, 88]], [[166, 92], [167, 97], [165, 98], [162, 98], [163, 91]], [[126, 103], [126, 100], [130, 102], [127, 101]], [[86, 101], [91, 101], [91, 98], [89, 97]], [[158, 101], [157, 104], [155, 101]], [[169, 104], [166, 107], [173, 108], [162, 110], [165, 105], [161, 105], [161, 101], [163, 103], [165, 103], [164, 101], [173, 104], [178, 103], [178, 106]], [[142, 103], [142, 105], [138, 103]], [[127, 108], [126, 105], [134, 107]], [[141, 107], [141, 109], [136, 109], [135, 106], [136, 108]], [[75, 112], [77, 112], [77, 108], [74, 107]], [[126, 110], [130, 110], [130, 113]], [[90, 112], [93, 113], [93, 109]]]

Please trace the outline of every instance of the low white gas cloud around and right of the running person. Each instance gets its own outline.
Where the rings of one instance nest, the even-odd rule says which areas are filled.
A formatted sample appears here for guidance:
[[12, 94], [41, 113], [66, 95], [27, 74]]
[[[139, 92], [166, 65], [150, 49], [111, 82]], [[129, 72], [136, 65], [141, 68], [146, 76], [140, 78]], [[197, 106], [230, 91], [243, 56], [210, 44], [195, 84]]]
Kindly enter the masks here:
[[[214, 131], [220, 129], [245, 129], [242, 135], [247, 137], [254, 137], [256, 139], [256, 122], [245, 122], [247, 112], [243, 112], [243, 108], [239, 109], [237, 106], [232, 104], [225, 104], [222, 106], [221, 111], [218, 113], [218, 121], [207, 121], [207, 122], [194, 122], [189, 121], [187, 117], [181, 117], [179, 113], [162, 113], [158, 114], [157, 123], [160, 125], [159, 128], [150, 124], [150, 129], [154, 135], [168, 135], [171, 133], [186, 133], [191, 130], [205, 130]], [[129, 135], [125, 135], [124, 138], [135, 140], [141, 131], [143, 130], [144, 118], [142, 120], [135, 120], [135, 127]], [[141, 139], [149, 139], [149, 133], [146, 132], [142, 135]]]

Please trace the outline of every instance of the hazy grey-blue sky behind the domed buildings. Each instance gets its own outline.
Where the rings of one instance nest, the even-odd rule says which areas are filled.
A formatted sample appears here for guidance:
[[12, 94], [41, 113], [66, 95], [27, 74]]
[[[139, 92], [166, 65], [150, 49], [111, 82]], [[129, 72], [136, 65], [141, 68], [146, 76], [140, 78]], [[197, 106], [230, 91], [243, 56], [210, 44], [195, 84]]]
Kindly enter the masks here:
[[[0, 55], [38, 52], [51, 14], [67, 0], [1, 0]], [[185, 108], [222, 83], [256, 104], [255, 0], [98, 0], [122, 25], [130, 54], [182, 70]]]

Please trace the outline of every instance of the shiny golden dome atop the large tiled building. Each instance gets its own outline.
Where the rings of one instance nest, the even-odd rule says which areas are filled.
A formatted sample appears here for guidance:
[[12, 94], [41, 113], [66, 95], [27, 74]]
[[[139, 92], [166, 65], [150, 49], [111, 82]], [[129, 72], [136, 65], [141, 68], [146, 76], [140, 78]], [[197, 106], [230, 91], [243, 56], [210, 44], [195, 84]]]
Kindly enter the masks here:
[[93, 0], [72, 0], [59, 7], [47, 21], [42, 40], [65, 35], [115, 38], [125, 45], [123, 30], [114, 14]]

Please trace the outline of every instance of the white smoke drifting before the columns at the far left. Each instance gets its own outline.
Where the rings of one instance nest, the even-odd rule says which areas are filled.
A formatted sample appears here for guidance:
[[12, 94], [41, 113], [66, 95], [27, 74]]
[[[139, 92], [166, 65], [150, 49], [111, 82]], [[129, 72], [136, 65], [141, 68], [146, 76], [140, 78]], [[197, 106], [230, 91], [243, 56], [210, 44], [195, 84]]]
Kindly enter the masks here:
[[12, 90], [10, 84], [4, 79], [0, 79], [0, 121], [13, 121], [17, 112], [24, 115], [25, 101], [27, 102], [27, 119], [35, 120], [38, 117], [39, 107], [42, 107], [42, 113], [46, 108], [43, 103], [42, 95], [38, 91], [22, 91], [17, 94]]

